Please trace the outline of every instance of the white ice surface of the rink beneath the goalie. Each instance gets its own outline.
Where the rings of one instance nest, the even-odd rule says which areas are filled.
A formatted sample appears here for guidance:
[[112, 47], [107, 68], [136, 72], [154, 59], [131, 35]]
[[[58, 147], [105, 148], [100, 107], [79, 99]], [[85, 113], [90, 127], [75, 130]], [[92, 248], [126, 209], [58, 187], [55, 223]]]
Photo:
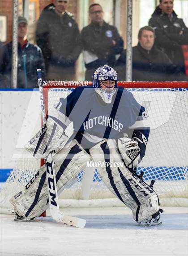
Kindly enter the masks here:
[[14, 222], [1, 214], [0, 256], [187, 256], [188, 209], [162, 208], [162, 225], [155, 227], [138, 225], [130, 211], [118, 208], [66, 209], [87, 220], [84, 229], [49, 216]]

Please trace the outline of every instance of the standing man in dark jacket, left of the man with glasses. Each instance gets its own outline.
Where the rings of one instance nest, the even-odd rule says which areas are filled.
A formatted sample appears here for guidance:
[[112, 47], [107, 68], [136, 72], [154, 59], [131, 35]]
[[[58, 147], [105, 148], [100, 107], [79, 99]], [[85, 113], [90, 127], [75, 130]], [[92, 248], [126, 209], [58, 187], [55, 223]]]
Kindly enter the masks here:
[[36, 40], [43, 52], [48, 80], [75, 80], [81, 37], [67, 7], [68, 0], [55, 0], [44, 8], [37, 22]]

